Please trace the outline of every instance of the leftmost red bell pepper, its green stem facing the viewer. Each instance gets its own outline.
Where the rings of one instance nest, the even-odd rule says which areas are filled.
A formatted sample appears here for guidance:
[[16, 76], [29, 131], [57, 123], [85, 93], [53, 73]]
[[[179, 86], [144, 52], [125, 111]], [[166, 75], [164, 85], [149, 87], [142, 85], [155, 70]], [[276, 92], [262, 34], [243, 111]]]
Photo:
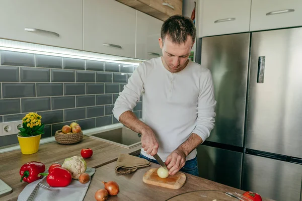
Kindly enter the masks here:
[[19, 171], [21, 175], [20, 182], [22, 182], [23, 180], [25, 182], [31, 183], [35, 180], [38, 180], [42, 178], [42, 176], [38, 176], [38, 174], [44, 171], [45, 171], [45, 165], [41, 162], [31, 161], [25, 163], [24, 165], [21, 166]]

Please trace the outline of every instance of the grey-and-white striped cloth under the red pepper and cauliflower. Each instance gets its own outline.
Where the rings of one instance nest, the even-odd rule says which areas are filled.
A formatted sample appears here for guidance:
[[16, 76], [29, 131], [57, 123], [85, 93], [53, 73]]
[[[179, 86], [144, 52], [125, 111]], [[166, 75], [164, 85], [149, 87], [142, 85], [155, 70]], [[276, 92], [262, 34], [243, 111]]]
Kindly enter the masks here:
[[[91, 177], [95, 173], [95, 168], [87, 168], [86, 173]], [[48, 171], [45, 171], [48, 172]], [[79, 180], [72, 179], [66, 187], [51, 187], [46, 182], [46, 176], [29, 183], [18, 196], [18, 201], [82, 201], [86, 195], [89, 182], [83, 184]]]

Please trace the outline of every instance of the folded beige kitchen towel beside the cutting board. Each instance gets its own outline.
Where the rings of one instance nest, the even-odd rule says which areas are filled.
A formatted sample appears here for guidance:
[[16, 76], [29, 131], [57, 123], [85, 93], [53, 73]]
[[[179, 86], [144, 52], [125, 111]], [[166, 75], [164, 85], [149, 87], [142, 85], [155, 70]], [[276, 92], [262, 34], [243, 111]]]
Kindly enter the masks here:
[[140, 167], [147, 167], [150, 162], [144, 158], [129, 154], [119, 154], [116, 162], [115, 171], [119, 174], [130, 174]]

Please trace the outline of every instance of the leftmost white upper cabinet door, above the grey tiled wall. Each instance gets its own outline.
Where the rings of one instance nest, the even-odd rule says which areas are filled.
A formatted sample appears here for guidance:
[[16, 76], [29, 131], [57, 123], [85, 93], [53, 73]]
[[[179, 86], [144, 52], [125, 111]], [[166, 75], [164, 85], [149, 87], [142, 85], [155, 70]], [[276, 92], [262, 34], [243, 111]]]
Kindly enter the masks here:
[[0, 38], [83, 49], [83, 0], [1, 1]]

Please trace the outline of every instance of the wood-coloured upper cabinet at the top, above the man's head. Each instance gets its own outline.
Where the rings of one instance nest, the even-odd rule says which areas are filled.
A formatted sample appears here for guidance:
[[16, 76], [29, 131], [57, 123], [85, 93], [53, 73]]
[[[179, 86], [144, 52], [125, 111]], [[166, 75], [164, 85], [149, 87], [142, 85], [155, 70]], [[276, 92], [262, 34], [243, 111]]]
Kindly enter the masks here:
[[116, 0], [162, 21], [182, 15], [182, 0]]

